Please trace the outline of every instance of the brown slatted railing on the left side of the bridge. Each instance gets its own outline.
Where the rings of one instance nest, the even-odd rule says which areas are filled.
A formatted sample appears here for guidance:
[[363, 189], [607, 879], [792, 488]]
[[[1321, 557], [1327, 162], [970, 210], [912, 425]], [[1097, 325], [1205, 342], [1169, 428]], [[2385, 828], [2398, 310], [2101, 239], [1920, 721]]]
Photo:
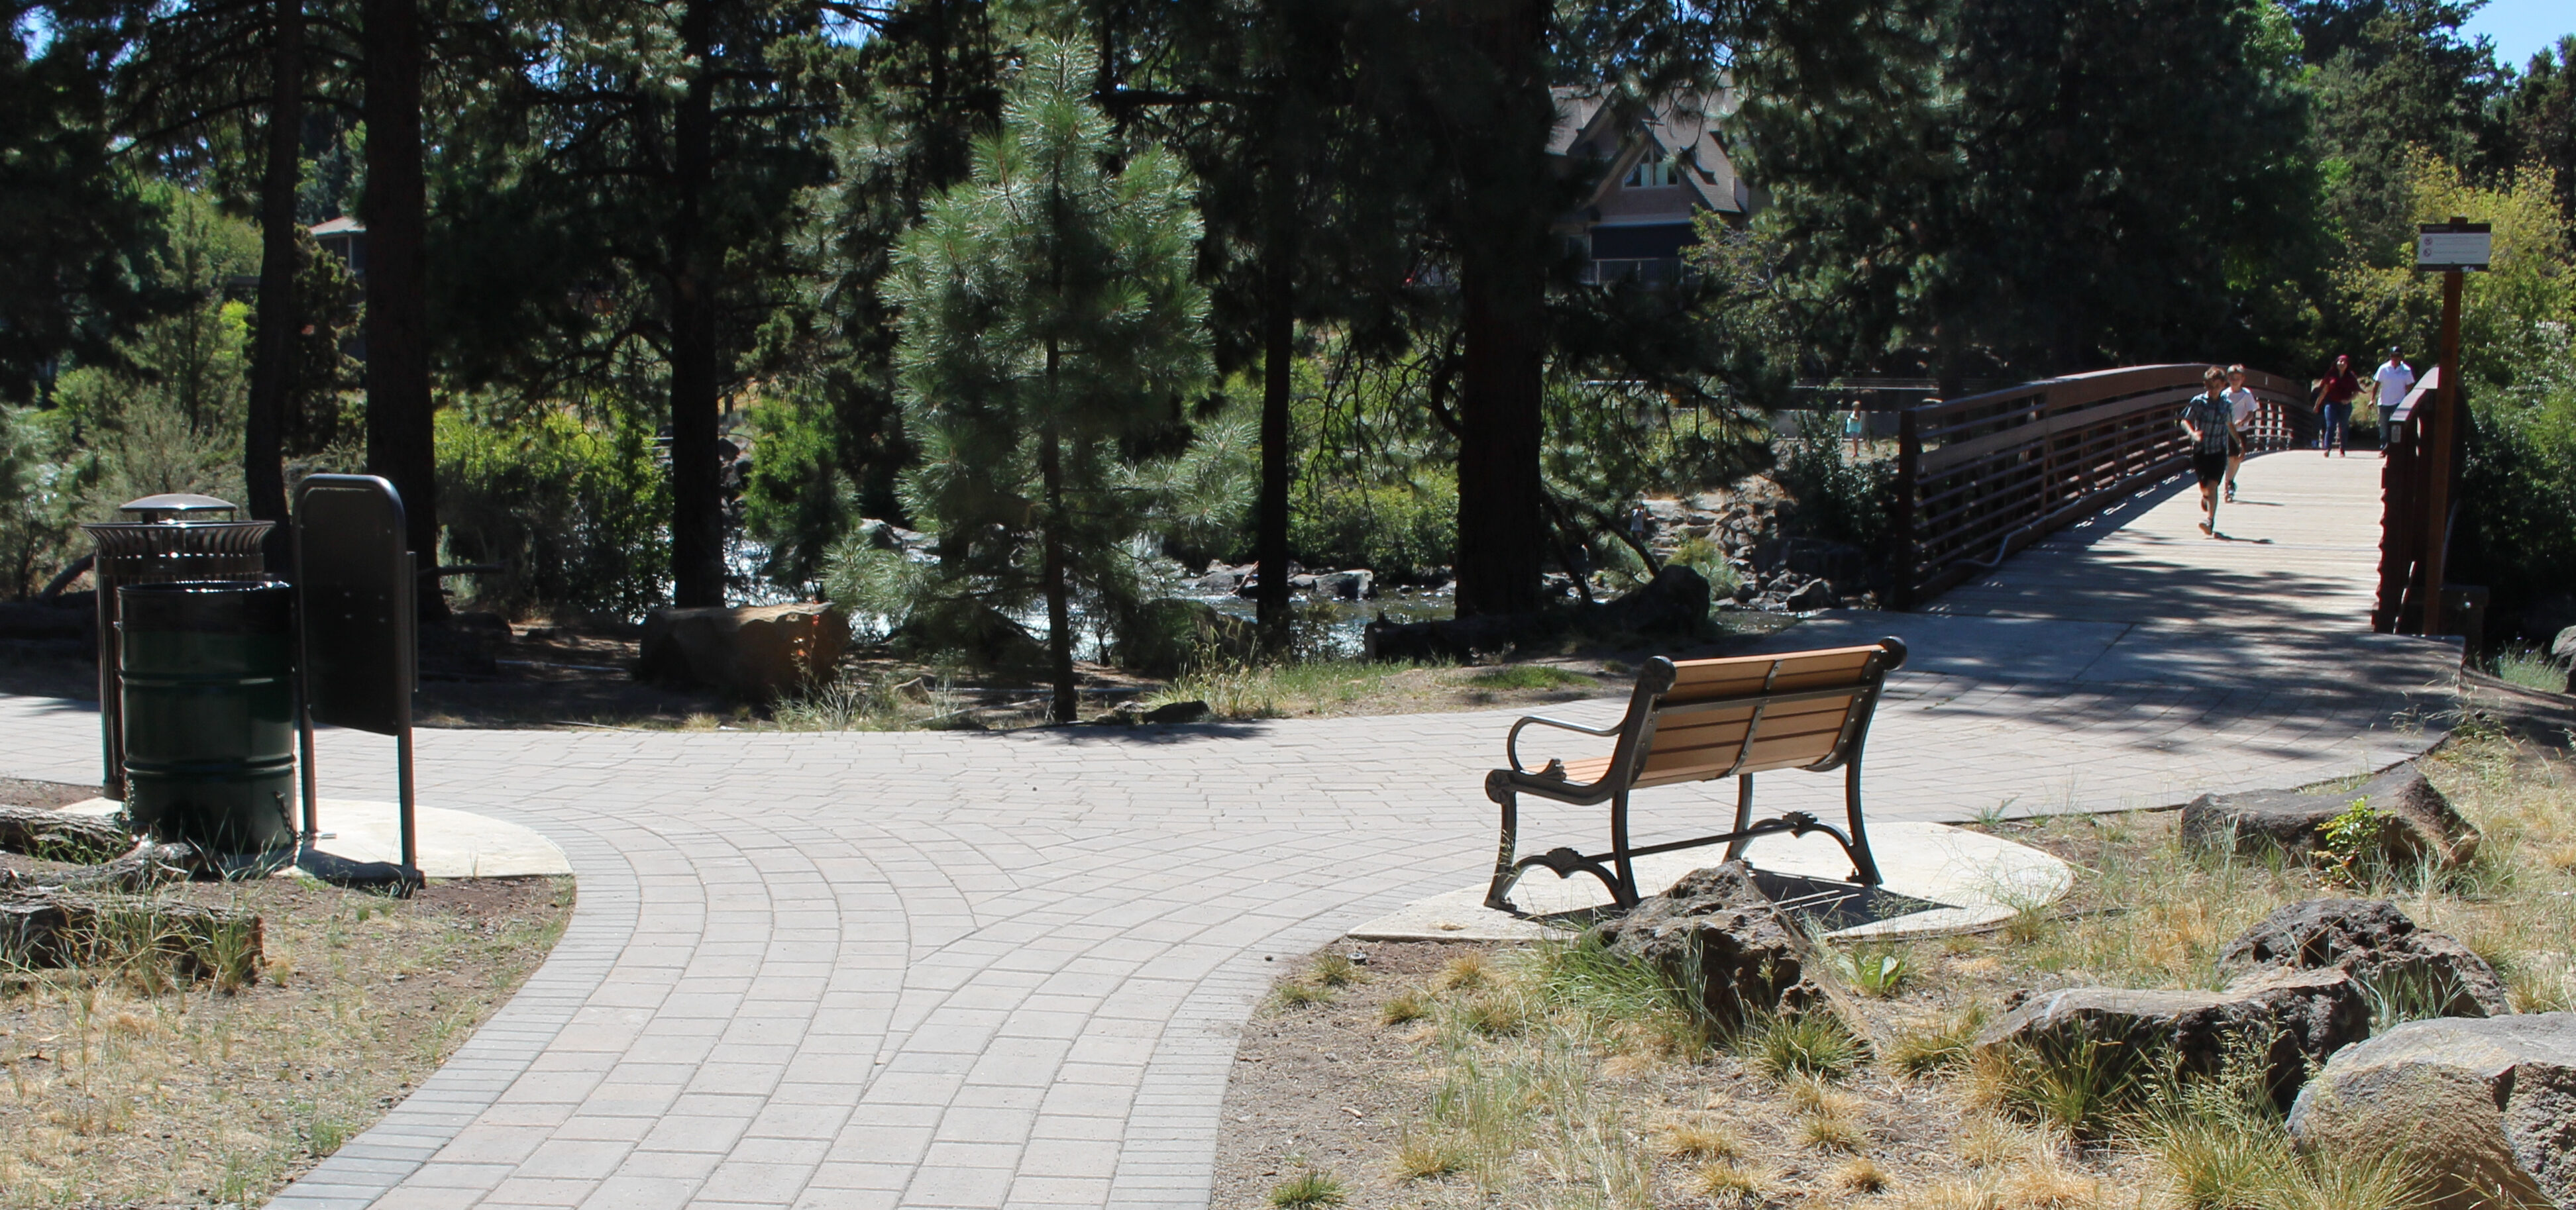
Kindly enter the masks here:
[[[2182, 474], [2182, 402], [2208, 363], [2074, 373], [1899, 414], [1893, 605], [1991, 572], [2050, 530]], [[2254, 451], [2303, 445], [2316, 414], [2298, 381], [2249, 373]]]

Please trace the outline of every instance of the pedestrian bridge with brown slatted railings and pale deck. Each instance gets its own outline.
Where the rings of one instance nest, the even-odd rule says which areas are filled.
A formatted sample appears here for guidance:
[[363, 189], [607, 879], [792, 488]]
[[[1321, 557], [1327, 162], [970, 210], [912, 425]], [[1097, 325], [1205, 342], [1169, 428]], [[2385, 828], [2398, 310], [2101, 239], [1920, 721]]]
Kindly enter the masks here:
[[[2419, 631], [2432, 469], [2419, 448], [2439, 371], [2380, 417], [2385, 458], [2308, 451], [2306, 384], [2249, 373], [2262, 471], [2244, 479], [2264, 487], [2221, 505], [2223, 538], [2202, 538], [2174, 420], [2202, 368], [2076, 373], [1899, 412], [1891, 602], [1942, 615]], [[2138, 507], [2161, 489], [2174, 499]]]

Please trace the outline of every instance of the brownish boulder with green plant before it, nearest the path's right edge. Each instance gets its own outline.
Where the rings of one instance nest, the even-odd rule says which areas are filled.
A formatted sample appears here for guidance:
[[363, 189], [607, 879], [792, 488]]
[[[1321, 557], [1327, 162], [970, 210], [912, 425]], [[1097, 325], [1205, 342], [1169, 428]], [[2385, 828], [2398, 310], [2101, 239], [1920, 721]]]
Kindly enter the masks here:
[[2349, 811], [2354, 798], [2391, 819], [2380, 832], [2380, 857], [2388, 862], [2429, 860], [2452, 870], [2478, 855], [2478, 829], [2460, 819], [2450, 798], [2442, 798], [2411, 762], [2370, 777], [2352, 793], [2205, 793], [2182, 808], [2182, 839], [2208, 847], [2233, 844], [2244, 855], [2282, 850], [2313, 860], [2324, 847], [2326, 821]]

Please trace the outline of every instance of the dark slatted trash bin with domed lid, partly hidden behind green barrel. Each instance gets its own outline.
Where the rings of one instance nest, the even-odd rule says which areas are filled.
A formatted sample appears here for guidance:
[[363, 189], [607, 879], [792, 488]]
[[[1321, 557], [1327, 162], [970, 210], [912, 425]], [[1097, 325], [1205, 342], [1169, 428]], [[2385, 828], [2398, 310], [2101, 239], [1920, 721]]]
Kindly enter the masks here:
[[175, 584], [188, 579], [268, 579], [260, 546], [273, 520], [214, 520], [240, 512], [232, 502], [188, 492], [129, 499], [118, 512], [134, 520], [88, 523], [98, 546], [90, 577], [98, 584], [98, 734], [111, 798], [126, 796], [124, 723], [116, 680], [116, 590], [124, 584]]

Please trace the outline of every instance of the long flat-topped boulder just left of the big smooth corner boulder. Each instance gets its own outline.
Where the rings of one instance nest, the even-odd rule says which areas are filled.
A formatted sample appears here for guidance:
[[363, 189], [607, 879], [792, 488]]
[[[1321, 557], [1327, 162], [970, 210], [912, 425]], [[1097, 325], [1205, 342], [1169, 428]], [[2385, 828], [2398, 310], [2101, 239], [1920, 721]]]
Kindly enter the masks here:
[[2226, 991], [2045, 991], [1989, 1025], [1976, 1050], [2069, 1056], [2092, 1043], [2156, 1068], [2208, 1076], [2221, 1071], [2231, 1048], [2257, 1048], [2275, 1102], [2290, 1104], [2311, 1061], [2362, 1038], [2370, 1038], [2370, 1001], [2352, 976], [2269, 968]]

